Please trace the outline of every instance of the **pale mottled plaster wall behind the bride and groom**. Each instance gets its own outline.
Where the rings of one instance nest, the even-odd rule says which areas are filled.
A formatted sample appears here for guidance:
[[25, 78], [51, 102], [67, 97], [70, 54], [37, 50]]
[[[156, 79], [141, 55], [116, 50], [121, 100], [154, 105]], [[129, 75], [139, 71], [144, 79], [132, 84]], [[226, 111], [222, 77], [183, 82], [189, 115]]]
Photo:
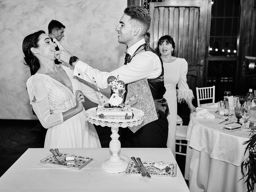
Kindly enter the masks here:
[[0, 119], [36, 119], [26, 91], [30, 70], [23, 64], [25, 36], [50, 20], [66, 26], [61, 44], [94, 68], [114, 70], [126, 51], [116, 26], [127, 0], [0, 0]]

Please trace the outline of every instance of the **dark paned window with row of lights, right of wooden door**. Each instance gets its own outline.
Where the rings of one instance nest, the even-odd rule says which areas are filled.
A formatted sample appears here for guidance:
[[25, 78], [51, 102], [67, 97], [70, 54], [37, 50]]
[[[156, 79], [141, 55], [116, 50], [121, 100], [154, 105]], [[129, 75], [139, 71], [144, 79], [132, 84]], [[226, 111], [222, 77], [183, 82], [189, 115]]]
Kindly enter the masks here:
[[216, 86], [216, 101], [224, 90], [236, 94], [239, 7], [240, 0], [212, 0], [207, 86]]

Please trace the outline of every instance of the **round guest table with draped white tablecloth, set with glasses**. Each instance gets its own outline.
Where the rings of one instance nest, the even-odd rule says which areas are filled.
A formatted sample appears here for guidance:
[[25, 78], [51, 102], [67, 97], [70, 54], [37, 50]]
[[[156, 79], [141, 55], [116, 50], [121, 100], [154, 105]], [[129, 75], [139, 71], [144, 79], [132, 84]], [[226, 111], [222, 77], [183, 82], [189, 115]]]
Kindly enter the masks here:
[[[213, 118], [199, 118], [196, 112], [190, 115], [184, 177], [189, 180], [190, 192], [247, 192], [241, 163], [248, 157], [243, 143], [250, 139], [250, 130], [224, 130], [227, 116], [221, 116], [217, 107], [205, 104], [197, 108], [197, 113], [204, 110]], [[250, 120], [256, 120], [256, 108]], [[232, 122], [237, 122], [236, 116]]]

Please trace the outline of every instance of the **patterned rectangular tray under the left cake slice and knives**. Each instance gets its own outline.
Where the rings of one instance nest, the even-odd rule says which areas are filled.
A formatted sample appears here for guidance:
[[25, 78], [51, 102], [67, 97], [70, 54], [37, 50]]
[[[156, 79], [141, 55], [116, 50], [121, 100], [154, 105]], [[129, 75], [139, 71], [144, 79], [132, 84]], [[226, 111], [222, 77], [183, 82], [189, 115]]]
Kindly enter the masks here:
[[[66, 153], [60, 153], [62, 156], [65, 158]], [[81, 169], [84, 166], [86, 166], [88, 163], [90, 163], [93, 160], [93, 158], [90, 157], [83, 157], [83, 156], [77, 156], [75, 155], [75, 164], [70, 164], [70, 165], [62, 165], [58, 160], [53, 156], [49, 155], [48, 157], [42, 159], [40, 162], [41, 163], [47, 163], [47, 164], [54, 164], [58, 166], [64, 166], [64, 167], [69, 167], [69, 168], [74, 168], [74, 169]]]

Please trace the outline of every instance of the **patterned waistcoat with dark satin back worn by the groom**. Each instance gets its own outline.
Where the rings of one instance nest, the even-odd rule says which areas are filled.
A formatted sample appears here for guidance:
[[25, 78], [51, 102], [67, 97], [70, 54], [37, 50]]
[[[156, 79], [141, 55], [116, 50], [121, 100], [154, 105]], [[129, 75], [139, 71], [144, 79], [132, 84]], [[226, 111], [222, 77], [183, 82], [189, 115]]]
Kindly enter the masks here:
[[[156, 54], [156, 52], [152, 50], [150, 46], [143, 44], [131, 56], [130, 60], [128, 60], [128, 63], [136, 54], [144, 51], [151, 51]], [[166, 118], [169, 115], [168, 104], [163, 97], [166, 89], [164, 87], [164, 68], [161, 58], [160, 61], [162, 65], [162, 73], [160, 76], [154, 79], [144, 78], [142, 80], [127, 84], [127, 95], [125, 100], [129, 100], [134, 95], [138, 94], [138, 96], [130, 101], [130, 105], [133, 108], [140, 109], [144, 112], [144, 121], [142, 124], [129, 127], [130, 130], [134, 133], [142, 126], [154, 120]]]

